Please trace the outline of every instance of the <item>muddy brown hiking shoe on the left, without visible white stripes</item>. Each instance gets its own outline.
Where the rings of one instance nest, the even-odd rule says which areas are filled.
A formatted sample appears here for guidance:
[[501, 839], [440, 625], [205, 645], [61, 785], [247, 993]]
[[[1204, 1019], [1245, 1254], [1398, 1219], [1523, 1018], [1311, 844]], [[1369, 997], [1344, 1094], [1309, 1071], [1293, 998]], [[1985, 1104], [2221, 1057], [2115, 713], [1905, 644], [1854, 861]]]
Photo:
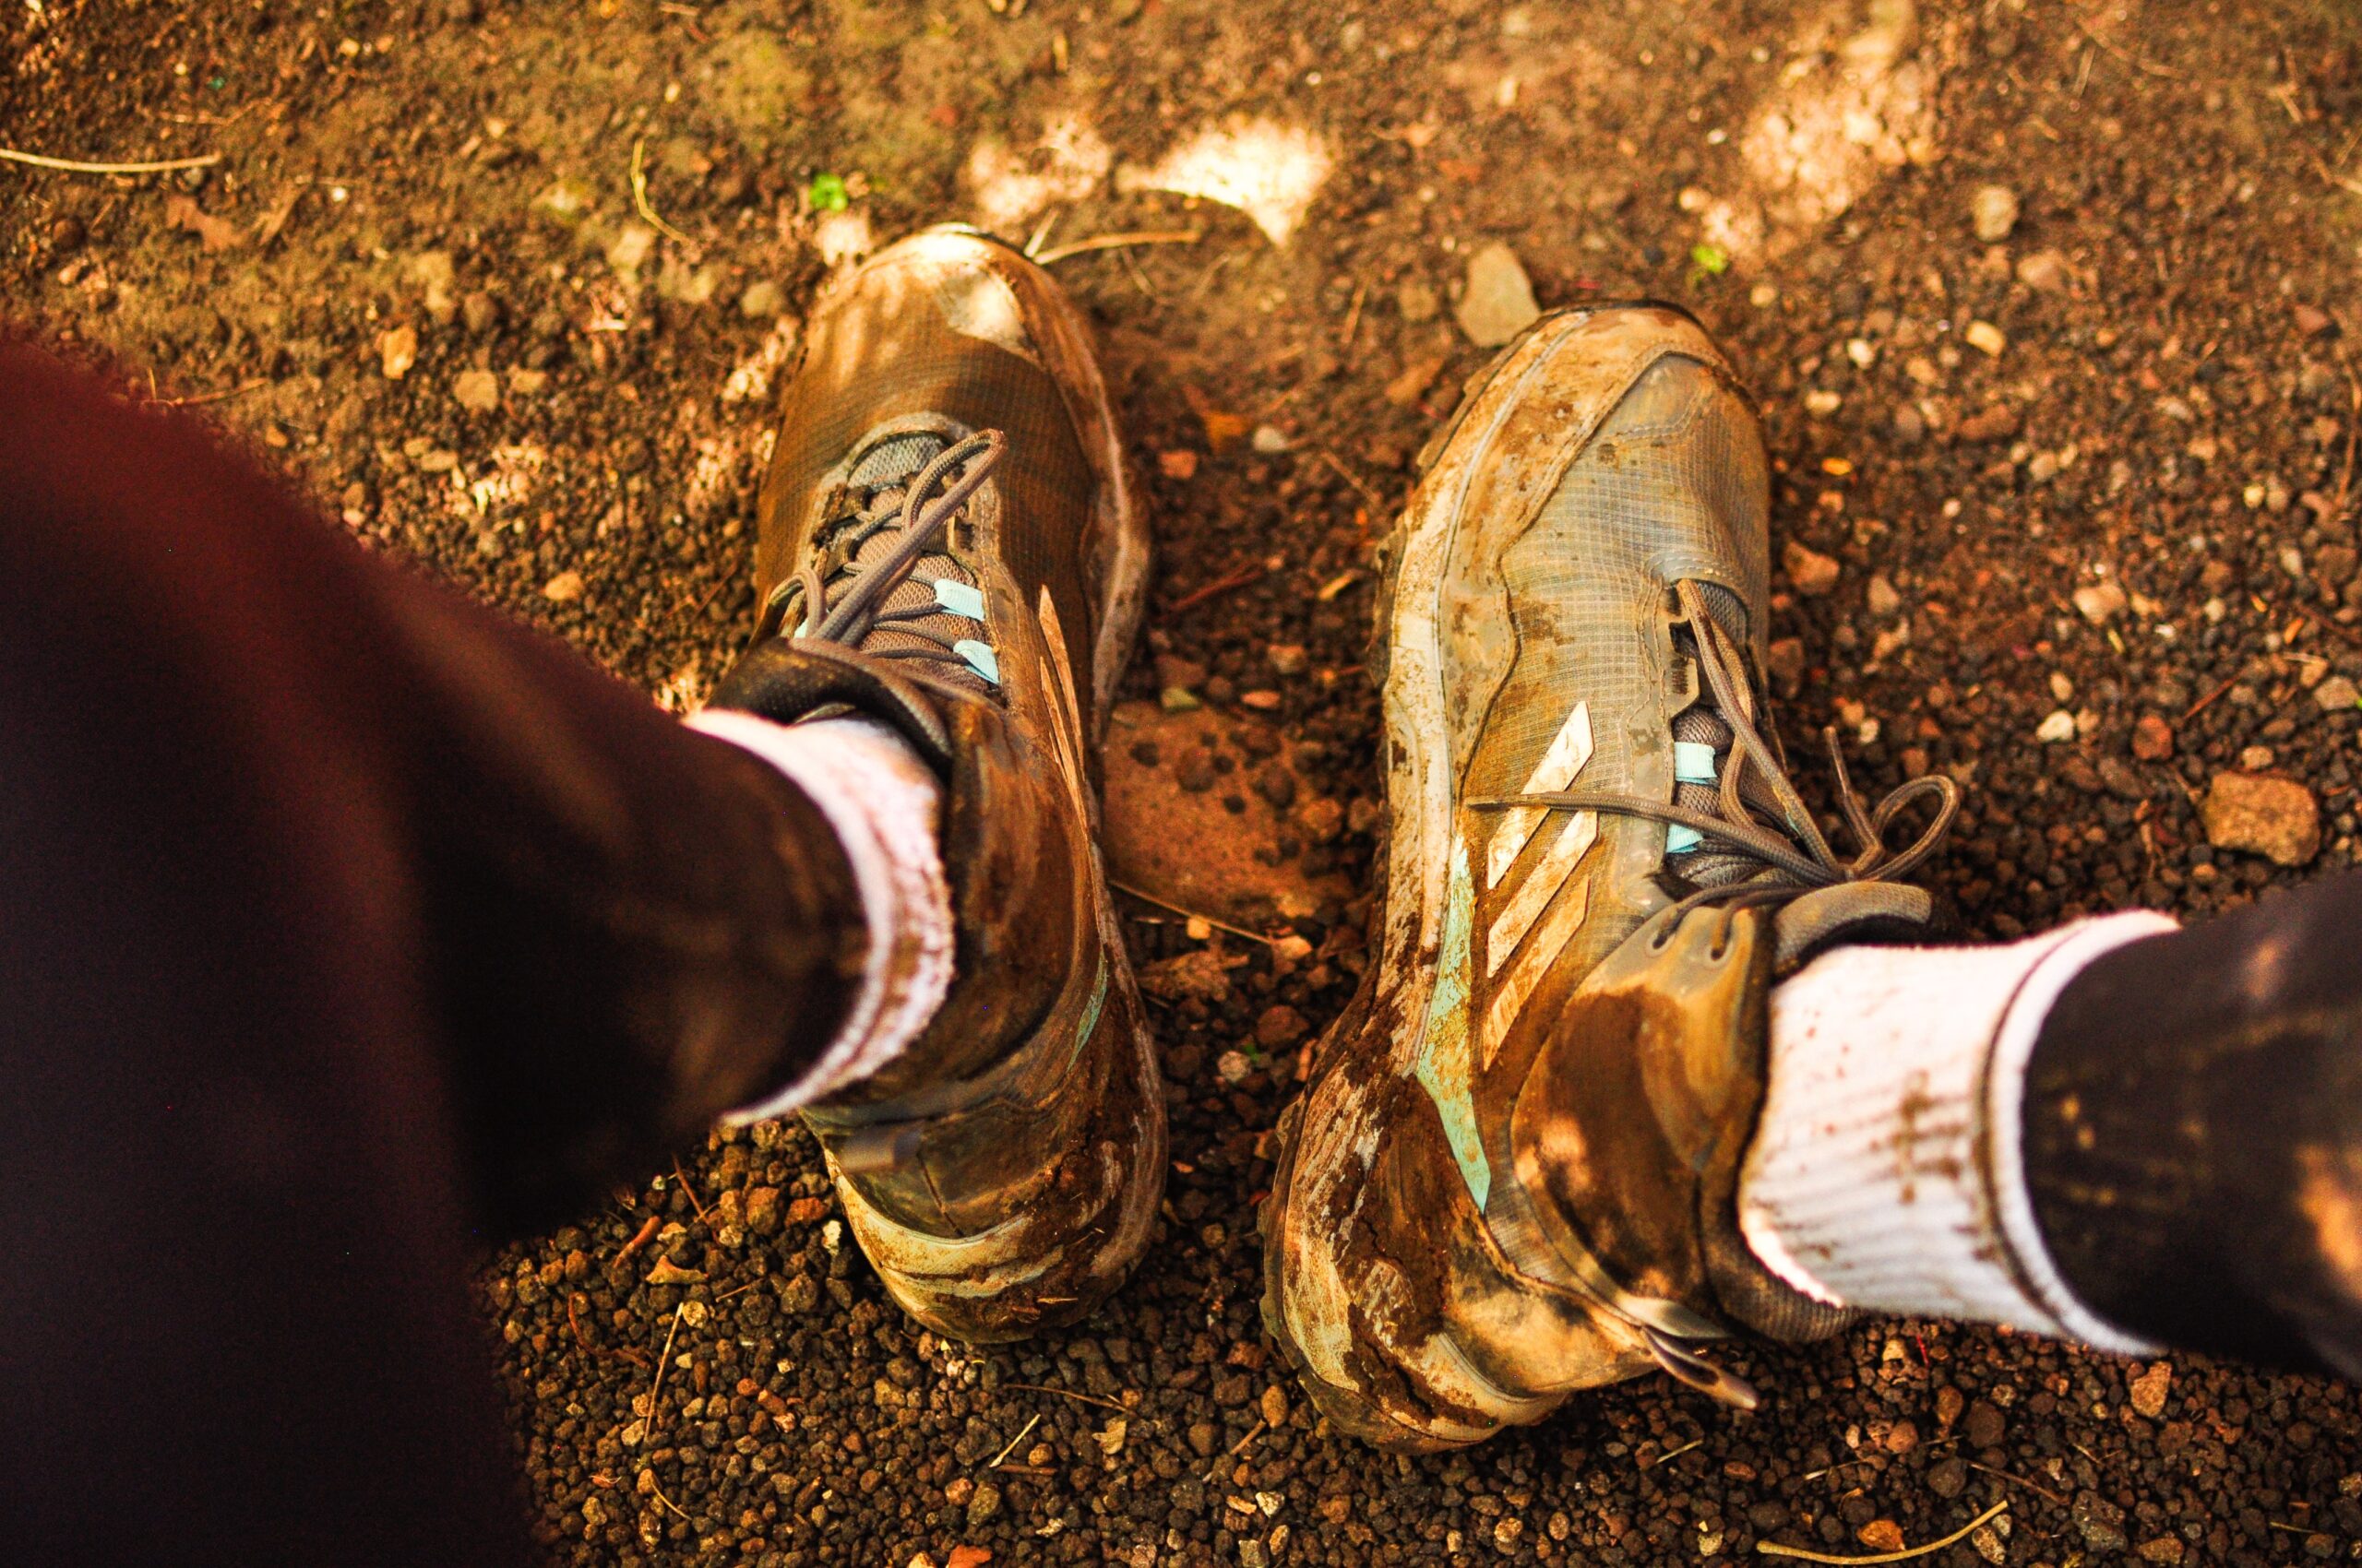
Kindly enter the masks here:
[[1148, 524], [1079, 312], [933, 229], [815, 314], [761, 496], [756, 640], [713, 704], [860, 713], [945, 782], [942, 1011], [803, 1112], [879, 1278], [957, 1339], [1072, 1322], [1124, 1278], [1164, 1096], [1098, 864], [1098, 734]]

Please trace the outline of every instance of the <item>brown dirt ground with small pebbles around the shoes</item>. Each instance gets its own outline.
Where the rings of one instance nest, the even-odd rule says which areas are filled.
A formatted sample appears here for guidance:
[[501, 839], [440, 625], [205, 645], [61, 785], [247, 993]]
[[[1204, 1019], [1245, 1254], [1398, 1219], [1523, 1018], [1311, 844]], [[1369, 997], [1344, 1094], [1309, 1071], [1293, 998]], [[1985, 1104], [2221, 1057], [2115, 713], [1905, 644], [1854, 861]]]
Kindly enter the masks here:
[[[831, 264], [978, 220], [1101, 326], [1162, 550], [1108, 770], [1164, 1233], [1079, 1332], [938, 1344], [758, 1129], [487, 1259], [555, 1559], [1736, 1563], [2005, 1502], [1927, 1561], [2362, 1561], [2355, 1389], [1937, 1322], [1741, 1355], [1755, 1417], [1644, 1381], [1382, 1459], [1264, 1344], [1252, 1226], [1363, 963], [1370, 548], [1495, 241], [1753, 378], [1783, 727], [1871, 793], [1968, 784], [1934, 878], [1979, 933], [2355, 862], [2355, 7], [26, 0], [0, 38], [0, 144], [220, 156], [0, 165], [12, 319], [676, 708], [744, 635]], [[1075, 248], [1120, 234], [1160, 239]]]

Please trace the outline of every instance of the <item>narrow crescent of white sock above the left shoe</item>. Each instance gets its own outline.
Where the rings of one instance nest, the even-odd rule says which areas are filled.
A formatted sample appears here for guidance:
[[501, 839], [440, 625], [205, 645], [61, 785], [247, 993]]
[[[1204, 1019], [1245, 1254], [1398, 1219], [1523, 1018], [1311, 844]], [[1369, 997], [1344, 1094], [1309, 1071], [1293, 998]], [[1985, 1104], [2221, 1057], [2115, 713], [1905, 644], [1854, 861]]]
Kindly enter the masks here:
[[706, 708], [687, 723], [756, 753], [820, 808], [853, 864], [869, 926], [862, 989], [836, 1039], [801, 1079], [723, 1117], [768, 1122], [869, 1077], [942, 1006], [952, 985], [952, 895], [935, 843], [942, 789], [909, 741], [872, 718], [775, 725]]

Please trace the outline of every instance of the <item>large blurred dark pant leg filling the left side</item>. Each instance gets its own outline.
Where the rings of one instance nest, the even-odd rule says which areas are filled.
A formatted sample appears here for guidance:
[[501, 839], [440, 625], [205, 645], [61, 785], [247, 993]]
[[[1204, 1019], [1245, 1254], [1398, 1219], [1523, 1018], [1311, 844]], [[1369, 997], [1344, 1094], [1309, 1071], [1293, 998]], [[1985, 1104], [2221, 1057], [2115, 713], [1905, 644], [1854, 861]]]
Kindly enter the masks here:
[[470, 1233], [813, 1060], [815, 808], [0, 345], [0, 1518], [520, 1561]]

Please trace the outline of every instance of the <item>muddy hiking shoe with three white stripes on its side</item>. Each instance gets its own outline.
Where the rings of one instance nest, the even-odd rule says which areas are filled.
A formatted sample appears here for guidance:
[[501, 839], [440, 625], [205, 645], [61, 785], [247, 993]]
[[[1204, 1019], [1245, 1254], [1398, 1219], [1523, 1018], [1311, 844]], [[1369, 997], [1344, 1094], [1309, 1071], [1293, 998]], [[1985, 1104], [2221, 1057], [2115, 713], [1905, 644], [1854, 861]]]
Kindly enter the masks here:
[[1738, 1235], [1769, 987], [1925, 937], [1894, 878], [1958, 791], [1871, 815], [1840, 775], [1852, 857], [1797, 798], [1767, 508], [1750, 401], [1665, 307], [1545, 316], [1429, 446], [1377, 628], [1382, 949], [1261, 1216], [1266, 1325], [1344, 1431], [1476, 1443], [1649, 1370], [1753, 1405], [1701, 1346], [1845, 1322]]

